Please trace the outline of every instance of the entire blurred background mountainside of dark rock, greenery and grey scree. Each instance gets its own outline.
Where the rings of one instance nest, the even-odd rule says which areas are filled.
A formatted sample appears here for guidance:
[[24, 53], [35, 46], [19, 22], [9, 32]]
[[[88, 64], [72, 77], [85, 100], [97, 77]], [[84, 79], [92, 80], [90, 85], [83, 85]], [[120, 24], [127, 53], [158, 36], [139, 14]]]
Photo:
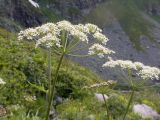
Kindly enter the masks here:
[[[115, 50], [114, 59], [130, 59], [160, 67], [160, 2], [158, 0], [0, 0], [0, 26], [11, 31], [37, 26], [47, 21], [69, 19], [100, 25]], [[102, 4], [100, 4], [102, 2]], [[124, 7], [125, 6], [125, 7]], [[115, 9], [116, 8], [116, 9]], [[57, 17], [58, 16], [58, 17]], [[86, 52], [81, 51], [81, 52]], [[99, 58], [71, 58], [91, 68], [104, 79], [117, 79], [101, 66]]]

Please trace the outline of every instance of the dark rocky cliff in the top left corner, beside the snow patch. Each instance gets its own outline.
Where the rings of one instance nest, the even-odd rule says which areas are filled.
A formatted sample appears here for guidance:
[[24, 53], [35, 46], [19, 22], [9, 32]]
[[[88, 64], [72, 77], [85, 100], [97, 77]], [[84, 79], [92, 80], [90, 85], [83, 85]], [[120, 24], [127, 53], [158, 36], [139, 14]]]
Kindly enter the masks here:
[[[5, 20], [5, 24], [12, 21], [24, 27], [37, 26], [45, 21], [42, 13], [30, 5], [28, 0], [0, 0], [0, 18], [0, 23], [3, 19], [8, 19], [8, 21]], [[5, 24], [0, 24], [0, 26], [5, 27]]]

